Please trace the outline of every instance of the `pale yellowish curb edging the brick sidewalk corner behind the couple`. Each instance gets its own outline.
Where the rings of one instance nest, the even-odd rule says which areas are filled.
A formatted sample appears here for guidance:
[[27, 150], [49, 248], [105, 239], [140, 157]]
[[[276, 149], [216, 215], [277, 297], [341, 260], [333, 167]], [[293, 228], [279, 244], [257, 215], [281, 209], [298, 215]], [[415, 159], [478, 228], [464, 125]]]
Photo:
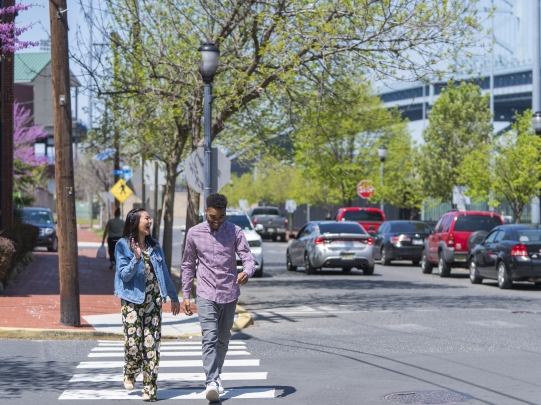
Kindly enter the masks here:
[[[241, 331], [254, 323], [252, 315], [241, 306], [235, 310], [237, 319], [233, 322], [231, 330]], [[201, 333], [184, 333], [179, 335], [162, 335], [162, 340], [178, 340], [201, 337]], [[73, 330], [73, 329], [38, 329], [38, 328], [0, 328], [0, 340], [2, 339], [27, 339], [27, 340], [119, 340], [124, 335], [120, 333], [99, 332], [96, 330]]]

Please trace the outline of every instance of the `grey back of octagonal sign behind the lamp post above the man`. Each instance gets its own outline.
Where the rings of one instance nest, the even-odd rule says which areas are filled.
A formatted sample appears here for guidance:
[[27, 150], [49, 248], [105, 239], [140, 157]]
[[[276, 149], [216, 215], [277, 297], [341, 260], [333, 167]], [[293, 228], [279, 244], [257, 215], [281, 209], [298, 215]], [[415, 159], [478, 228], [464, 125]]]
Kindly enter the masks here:
[[[197, 148], [184, 162], [186, 181], [198, 193], [205, 191], [205, 150]], [[231, 161], [218, 148], [212, 148], [211, 192], [217, 193], [229, 183]]]

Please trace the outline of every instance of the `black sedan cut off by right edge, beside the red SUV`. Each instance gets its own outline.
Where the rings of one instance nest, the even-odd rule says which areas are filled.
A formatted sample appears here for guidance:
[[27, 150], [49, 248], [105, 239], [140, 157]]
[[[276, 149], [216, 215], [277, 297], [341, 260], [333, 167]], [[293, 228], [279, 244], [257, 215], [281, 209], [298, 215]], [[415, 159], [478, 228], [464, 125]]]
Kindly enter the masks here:
[[501, 225], [473, 248], [470, 281], [498, 280], [512, 288], [513, 281], [541, 282], [541, 229], [527, 225]]

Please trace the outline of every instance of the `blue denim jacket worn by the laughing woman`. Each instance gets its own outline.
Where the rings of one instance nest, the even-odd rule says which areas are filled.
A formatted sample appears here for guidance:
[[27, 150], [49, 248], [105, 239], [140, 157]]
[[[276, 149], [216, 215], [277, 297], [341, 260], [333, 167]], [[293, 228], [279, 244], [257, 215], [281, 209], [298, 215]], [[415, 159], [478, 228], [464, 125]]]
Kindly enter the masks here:
[[[178, 295], [169, 276], [165, 265], [165, 258], [162, 248], [156, 243], [153, 249], [147, 243], [150, 262], [154, 267], [154, 273], [160, 286], [160, 294], [163, 302], [167, 296], [173, 302], [179, 302]], [[116, 273], [115, 273], [115, 295], [134, 304], [142, 304], [145, 300], [146, 276], [145, 261], [143, 257], [135, 260], [135, 254], [130, 250], [126, 238], [121, 238], [115, 248]]]

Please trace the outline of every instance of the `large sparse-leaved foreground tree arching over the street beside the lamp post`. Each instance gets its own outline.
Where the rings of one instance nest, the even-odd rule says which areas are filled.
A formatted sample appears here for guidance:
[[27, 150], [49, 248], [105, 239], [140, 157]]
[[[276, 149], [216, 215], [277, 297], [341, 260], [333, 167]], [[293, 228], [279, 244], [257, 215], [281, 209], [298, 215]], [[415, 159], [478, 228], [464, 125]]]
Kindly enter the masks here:
[[[394, 2], [305, 0], [108, 0], [99, 27], [104, 43], [122, 56], [88, 69], [101, 93], [121, 95], [153, 115], [167, 167], [164, 251], [171, 263], [174, 185], [178, 166], [203, 145], [203, 86], [198, 74], [202, 41], [222, 54], [215, 80], [212, 138], [250, 104], [289, 94], [300, 79], [332, 81], [334, 64], [370, 71], [375, 78], [418, 80], [441, 75], [447, 61], [474, 43], [479, 29], [475, 0]], [[111, 35], [114, 31], [114, 35]], [[439, 45], [443, 44], [444, 47]], [[93, 52], [93, 45], [87, 49]], [[79, 56], [83, 66], [88, 52]], [[441, 63], [440, 63], [441, 62]], [[439, 67], [442, 66], [442, 69]], [[115, 86], [107, 86], [112, 77]], [[322, 80], [325, 77], [325, 80]], [[323, 88], [323, 87], [321, 87]], [[199, 194], [189, 188], [187, 228], [198, 222]]]

